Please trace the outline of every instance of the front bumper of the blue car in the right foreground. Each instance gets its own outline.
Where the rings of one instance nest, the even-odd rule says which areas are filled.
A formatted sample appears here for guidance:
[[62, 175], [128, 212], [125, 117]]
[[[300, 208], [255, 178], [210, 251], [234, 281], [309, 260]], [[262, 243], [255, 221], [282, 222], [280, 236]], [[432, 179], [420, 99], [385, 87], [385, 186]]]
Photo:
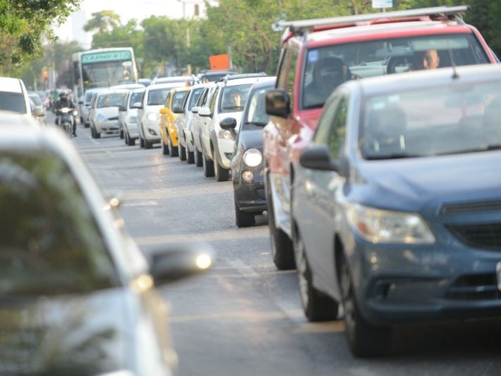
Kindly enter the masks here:
[[501, 317], [501, 252], [460, 243], [373, 245], [355, 236], [344, 244], [353, 245], [356, 298], [373, 324]]

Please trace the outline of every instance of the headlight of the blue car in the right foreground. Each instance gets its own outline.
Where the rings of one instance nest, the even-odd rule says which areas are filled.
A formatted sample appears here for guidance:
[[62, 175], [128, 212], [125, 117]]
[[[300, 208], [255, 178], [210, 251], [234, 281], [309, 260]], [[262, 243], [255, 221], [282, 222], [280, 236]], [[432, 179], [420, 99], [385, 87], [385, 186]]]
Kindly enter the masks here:
[[435, 242], [435, 236], [428, 225], [416, 213], [347, 204], [346, 214], [351, 227], [369, 242], [406, 244]]

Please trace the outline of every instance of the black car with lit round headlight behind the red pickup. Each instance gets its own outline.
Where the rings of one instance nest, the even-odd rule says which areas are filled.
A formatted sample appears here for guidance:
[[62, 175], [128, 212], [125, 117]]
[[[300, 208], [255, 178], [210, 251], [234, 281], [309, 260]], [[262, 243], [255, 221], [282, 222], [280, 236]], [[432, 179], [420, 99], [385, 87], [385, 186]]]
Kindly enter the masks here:
[[[269, 118], [265, 112], [265, 93], [273, 88], [275, 79], [275, 76], [262, 79], [250, 89], [231, 158], [235, 218], [239, 227], [254, 225], [255, 215], [267, 209], [263, 179], [265, 166], [262, 164], [262, 128]], [[221, 127], [235, 129], [236, 121], [224, 119]]]

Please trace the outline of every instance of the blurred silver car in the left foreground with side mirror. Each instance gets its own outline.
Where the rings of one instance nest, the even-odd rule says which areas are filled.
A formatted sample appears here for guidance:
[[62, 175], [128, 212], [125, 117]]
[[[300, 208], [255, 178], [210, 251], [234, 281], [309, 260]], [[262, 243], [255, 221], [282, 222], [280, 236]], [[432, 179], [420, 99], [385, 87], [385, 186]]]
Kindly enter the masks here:
[[25, 122], [0, 113], [2, 370], [176, 374], [155, 286], [207, 269], [212, 250], [173, 244], [145, 257], [70, 139]]

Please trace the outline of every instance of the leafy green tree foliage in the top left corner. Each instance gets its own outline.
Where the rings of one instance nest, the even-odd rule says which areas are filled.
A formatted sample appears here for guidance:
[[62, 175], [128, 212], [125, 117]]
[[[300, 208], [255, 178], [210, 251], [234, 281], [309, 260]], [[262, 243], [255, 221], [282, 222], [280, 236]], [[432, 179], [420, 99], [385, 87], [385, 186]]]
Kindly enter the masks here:
[[42, 55], [42, 37], [54, 42], [51, 25], [61, 25], [81, 0], [0, 0], [0, 74], [13, 76], [24, 61]]

